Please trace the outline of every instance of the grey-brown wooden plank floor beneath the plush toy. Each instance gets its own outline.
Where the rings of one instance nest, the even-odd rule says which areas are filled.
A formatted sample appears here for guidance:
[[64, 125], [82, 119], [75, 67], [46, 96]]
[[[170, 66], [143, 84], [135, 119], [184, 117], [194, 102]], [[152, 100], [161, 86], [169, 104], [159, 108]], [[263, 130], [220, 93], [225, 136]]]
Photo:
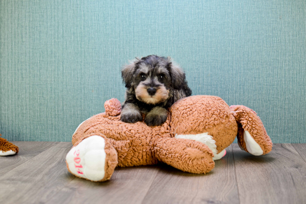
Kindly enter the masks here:
[[306, 144], [274, 144], [252, 156], [237, 144], [206, 175], [165, 164], [116, 168], [110, 181], [67, 171], [71, 142], [13, 142], [0, 157], [0, 203], [306, 203]]

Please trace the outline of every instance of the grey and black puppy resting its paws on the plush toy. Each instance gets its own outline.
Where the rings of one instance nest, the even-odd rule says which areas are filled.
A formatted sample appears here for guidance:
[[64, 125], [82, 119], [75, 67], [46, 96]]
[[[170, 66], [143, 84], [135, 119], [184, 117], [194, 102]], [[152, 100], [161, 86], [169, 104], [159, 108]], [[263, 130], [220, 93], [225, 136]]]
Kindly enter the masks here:
[[148, 126], [161, 125], [167, 119], [167, 108], [191, 95], [184, 71], [170, 57], [135, 58], [122, 68], [121, 75], [127, 88], [123, 122], [141, 121], [144, 113]]

